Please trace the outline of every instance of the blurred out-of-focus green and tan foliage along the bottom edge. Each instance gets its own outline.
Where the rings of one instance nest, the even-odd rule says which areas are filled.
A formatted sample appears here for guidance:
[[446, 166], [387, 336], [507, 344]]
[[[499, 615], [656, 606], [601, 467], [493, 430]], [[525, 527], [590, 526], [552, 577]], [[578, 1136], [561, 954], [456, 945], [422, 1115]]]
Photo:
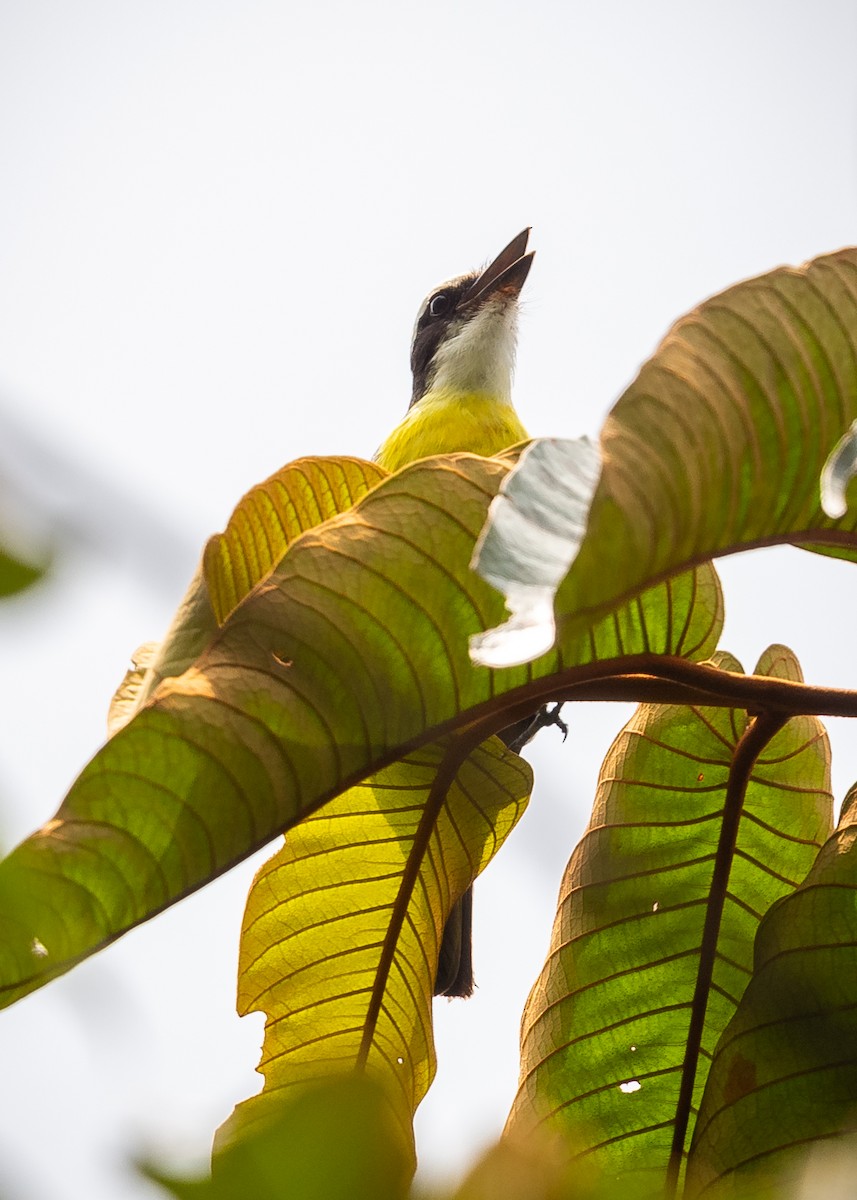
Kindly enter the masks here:
[[[583, 1129], [581, 1128], [581, 1132]], [[178, 1200], [645, 1200], [642, 1180], [617, 1182], [574, 1135], [509, 1134], [456, 1184], [409, 1186], [410, 1158], [383, 1088], [349, 1075], [311, 1085], [271, 1108], [266, 1121], [214, 1159], [212, 1172], [180, 1177], [155, 1163], [146, 1178]], [[853, 1200], [857, 1138], [845, 1133], [805, 1156], [791, 1177], [733, 1181], [731, 1200]]]

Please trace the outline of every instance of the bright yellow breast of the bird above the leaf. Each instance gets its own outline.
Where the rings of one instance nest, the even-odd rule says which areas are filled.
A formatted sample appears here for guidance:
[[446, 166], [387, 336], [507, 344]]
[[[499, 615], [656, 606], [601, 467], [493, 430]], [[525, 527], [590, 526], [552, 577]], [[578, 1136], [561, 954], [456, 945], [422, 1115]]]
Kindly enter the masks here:
[[511, 404], [496, 396], [430, 391], [386, 438], [376, 462], [386, 470], [398, 470], [406, 463], [433, 454], [468, 450], [489, 456], [527, 437]]

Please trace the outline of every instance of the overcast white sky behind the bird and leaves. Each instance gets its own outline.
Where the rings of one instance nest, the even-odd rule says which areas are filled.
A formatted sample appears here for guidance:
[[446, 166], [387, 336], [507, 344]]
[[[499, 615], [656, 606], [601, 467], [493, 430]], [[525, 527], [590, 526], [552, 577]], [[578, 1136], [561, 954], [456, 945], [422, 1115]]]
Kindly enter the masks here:
[[[516, 400], [597, 433], [670, 323], [857, 241], [852, 0], [0, 0], [0, 510], [76, 530], [0, 611], [0, 836], [49, 817], [238, 497], [371, 456], [415, 307], [523, 226]], [[40, 516], [41, 514], [41, 516]], [[857, 574], [724, 564], [724, 644], [853, 685]], [[477, 892], [477, 996], [438, 1002], [422, 1166], [499, 1130], [557, 887], [623, 713], [533, 751], [531, 811]], [[832, 722], [838, 799], [857, 778]], [[264, 858], [264, 856], [262, 856]], [[151, 1200], [254, 1091], [234, 1015], [245, 864], [0, 1014], [0, 1192]]]

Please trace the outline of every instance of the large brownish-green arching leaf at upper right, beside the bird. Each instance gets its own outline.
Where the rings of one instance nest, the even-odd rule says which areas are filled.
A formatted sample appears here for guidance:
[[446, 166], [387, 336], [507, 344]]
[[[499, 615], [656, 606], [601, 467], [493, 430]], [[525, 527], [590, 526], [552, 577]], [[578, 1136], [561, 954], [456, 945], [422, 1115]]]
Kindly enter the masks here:
[[559, 589], [561, 619], [736, 550], [802, 542], [857, 554], [857, 503], [833, 521], [819, 498], [827, 456], [855, 416], [857, 250], [700, 305], [601, 431], [601, 481]]

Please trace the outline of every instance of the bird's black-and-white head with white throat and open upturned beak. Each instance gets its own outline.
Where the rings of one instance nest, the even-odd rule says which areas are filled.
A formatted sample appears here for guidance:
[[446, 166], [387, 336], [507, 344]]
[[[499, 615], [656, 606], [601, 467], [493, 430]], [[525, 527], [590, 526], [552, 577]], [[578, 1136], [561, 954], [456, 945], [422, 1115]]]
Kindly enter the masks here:
[[430, 391], [487, 392], [510, 402], [517, 300], [533, 262], [529, 229], [484, 271], [460, 275], [422, 302], [410, 343], [412, 407]]

